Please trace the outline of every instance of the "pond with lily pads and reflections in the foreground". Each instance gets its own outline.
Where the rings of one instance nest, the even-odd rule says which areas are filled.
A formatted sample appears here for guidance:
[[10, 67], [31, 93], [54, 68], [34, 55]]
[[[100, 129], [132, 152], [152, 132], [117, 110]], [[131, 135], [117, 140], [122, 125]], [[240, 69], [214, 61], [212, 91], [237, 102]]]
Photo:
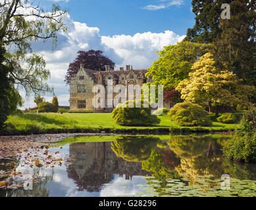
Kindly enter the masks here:
[[[256, 165], [222, 158], [226, 138], [91, 135], [55, 143], [5, 140], [0, 148], [0, 196], [256, 196]], [[11, 152], [5, 147], [9, 143]]]

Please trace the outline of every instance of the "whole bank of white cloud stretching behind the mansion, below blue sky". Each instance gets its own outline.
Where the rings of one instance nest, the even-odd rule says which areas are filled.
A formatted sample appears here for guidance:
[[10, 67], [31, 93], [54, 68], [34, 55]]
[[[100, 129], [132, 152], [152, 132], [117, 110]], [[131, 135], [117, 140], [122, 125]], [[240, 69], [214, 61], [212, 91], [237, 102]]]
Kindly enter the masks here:
[[[47, 83], [54, 87], [61, 106], [69, 106], [69, 86], [64, 83], [64, 76], [68, 64], [74, 61], [78, 51], [101, 50], [116, 63], [116, 69], [126, 64], [132, 64], [134, 69], [141, 69], [149, 68], [153, 61], [157, 60], [156, 51], [184, 39], [184, 36], [169, 30], [163, 33], [145, 32], [135, 35], [101, 36], [99, 28], [74, 22], [70, 16], [66, 18], [66, 25], [68, 31], [59, 34], [55, 51], [51, 50], [51, 43], [37, 42], [32, 44], [34, 51], [45, 58], [46, 68], [51, 71], [51, 79]], [[44, 97], [51, 102], [53, 96], [46, 95]], [[24, 104], [24, 107], [35, 105], [34, 98], [31, 97]]]

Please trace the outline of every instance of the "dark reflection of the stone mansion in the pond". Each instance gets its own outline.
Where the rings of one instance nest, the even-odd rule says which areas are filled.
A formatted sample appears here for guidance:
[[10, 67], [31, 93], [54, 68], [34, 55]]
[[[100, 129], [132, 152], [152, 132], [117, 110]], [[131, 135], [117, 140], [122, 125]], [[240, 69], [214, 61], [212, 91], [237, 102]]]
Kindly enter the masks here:
[[70, 156], [75, 158], [68, 165], [68, 177], [74, 179], [78, 190], [99, 191], [101, 185], [114, 179], [114, 175], [132, 179], [133, 175], [150, 175], [141, 169], [141, 163], [128, 162], [116, 157], [111, 142], [83, 142], [70, 145]]

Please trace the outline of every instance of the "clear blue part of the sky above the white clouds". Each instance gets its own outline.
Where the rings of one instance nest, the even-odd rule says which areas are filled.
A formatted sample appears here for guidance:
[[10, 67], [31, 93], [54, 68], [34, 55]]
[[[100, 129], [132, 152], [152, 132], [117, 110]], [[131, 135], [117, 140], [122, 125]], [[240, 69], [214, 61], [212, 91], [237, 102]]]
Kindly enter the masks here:
[[[185, 34], [194, 24], [191, 0], [69, 0], [57, 1], [72, 20], [97, 26], [101, 35], [160, 33]], [[51, 5], [44, 1], [43, 5]], [[169, 5], [169, 6], [168, 6]], [[153, 7], [155, 6], [155, 7]], [[155, 10], [154, 10], [155, 9]]]

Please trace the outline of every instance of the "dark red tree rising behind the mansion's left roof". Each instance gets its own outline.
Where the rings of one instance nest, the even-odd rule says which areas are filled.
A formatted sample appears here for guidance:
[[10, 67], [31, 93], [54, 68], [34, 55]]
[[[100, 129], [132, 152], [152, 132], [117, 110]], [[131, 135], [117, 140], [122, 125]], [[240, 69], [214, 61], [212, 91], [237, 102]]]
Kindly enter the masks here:
[[68, 66], [64, 80], [67, 84], [70, 83], [72, 75], [80, 69], [80, 64], [84, 64], [84, 68], [95, 71], [105, 71], [105, 65], [110, 65], [111, 70], [115, 68], [115, 63], [103, 55], [103, 51], [78, 51], [76, 60]]

